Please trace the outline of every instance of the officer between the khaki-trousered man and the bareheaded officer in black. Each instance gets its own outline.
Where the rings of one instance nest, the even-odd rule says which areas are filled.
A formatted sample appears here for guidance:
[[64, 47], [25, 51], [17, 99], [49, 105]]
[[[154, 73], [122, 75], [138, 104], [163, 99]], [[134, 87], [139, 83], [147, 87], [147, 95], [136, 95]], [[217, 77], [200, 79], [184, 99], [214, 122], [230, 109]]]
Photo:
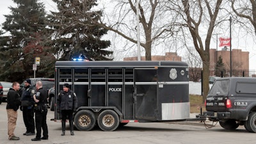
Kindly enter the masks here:
[[26, 79], [24, 81], [25, 88], [21, 96], [21, 106], [23, 121], [26, 126], [26, 132], [23, 135], [31, 136], [35, 135], [35, 120], [34, 120], [34, 109], [33, 105], [35, 101], [33, 100], [33, 95], [35, 95], [35, 87], [31, 86], [31, 80]]

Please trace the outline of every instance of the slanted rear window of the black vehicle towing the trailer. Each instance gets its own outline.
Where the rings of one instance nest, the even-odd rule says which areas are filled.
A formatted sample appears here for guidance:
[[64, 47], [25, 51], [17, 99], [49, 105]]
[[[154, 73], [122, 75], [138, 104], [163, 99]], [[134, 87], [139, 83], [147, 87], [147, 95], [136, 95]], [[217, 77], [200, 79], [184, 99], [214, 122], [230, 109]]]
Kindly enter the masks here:
[[228, 79], [215, 81], [209, 95], [228, 95], [229, 82]]

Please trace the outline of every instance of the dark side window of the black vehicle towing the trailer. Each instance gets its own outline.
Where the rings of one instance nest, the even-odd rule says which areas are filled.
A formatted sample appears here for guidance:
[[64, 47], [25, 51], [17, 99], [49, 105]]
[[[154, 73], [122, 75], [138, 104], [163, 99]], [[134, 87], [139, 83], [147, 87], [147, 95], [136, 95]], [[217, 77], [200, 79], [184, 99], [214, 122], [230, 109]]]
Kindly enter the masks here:
[[237, 93], [256, 93], [256, 83], [237, 83]]

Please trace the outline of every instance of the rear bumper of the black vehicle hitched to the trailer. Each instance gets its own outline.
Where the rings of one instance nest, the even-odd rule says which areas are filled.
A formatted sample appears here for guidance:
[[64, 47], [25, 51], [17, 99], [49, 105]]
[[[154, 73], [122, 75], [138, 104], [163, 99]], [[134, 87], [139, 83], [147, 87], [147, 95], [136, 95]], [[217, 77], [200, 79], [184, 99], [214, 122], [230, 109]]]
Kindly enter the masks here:
[[204, 116], [212, 119], [229, 119], [231, 118], [230, 112], [214, 112], [214, 111], [204, 111]]

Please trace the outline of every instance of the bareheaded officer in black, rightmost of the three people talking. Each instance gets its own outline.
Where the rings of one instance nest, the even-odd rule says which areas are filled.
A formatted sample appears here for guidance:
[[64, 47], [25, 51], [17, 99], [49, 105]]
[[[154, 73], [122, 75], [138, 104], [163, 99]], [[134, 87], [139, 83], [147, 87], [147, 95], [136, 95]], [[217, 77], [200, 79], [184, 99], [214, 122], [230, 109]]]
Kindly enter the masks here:
[[[46, 124], [47, 116], [47, 90], [43, 88], [42, 81], [36, 82], [36, 94], [33, 95], [35, 100], [35, 119], [36, 119], [36, 138], [31, 141], [48, 140], [48, 127]], [[43, 137], [41, 138], [41, 128], [43, 129]]]

